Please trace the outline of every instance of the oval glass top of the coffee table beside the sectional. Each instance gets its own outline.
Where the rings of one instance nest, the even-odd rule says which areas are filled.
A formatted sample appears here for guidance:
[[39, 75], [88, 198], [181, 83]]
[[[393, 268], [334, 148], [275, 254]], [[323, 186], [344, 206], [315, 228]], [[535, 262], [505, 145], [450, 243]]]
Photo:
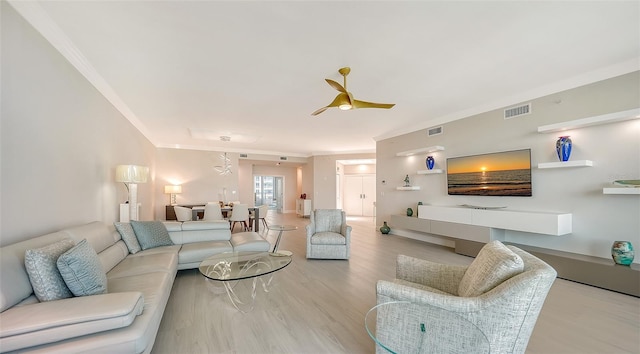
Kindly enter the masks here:
[[278, 271], [291, 263], [291, 256], [270, 252], [227, 252], [200, 263], [200, 273], [212, 280], [255, 278]]

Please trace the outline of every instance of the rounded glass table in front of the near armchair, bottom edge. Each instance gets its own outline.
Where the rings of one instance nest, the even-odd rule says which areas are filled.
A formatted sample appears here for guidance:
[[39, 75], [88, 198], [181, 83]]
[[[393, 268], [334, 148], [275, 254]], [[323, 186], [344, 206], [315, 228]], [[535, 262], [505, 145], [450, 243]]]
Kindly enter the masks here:
[[378, 304], [367, 312], [365, 329], [376, 352], [489, 353], [489, 340], [475, 324], [440, 307], [409, 301]]

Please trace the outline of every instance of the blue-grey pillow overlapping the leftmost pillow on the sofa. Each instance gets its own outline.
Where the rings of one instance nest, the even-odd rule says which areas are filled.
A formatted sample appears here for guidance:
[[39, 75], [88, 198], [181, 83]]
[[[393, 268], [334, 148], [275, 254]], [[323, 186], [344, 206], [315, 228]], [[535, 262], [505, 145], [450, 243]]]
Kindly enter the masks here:
[[107, 292], [107, 275], [96, 251], [87, 239], [58, 258], [58, 270], [62, 279], [75, 296], [104, 294]]

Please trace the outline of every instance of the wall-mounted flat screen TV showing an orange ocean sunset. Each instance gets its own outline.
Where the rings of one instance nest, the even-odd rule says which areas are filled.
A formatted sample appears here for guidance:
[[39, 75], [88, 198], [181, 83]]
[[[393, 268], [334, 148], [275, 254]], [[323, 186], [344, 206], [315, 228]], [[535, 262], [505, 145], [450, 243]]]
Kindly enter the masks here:
[[531, 196], [531, 149], [447, 159], [449, 195]]

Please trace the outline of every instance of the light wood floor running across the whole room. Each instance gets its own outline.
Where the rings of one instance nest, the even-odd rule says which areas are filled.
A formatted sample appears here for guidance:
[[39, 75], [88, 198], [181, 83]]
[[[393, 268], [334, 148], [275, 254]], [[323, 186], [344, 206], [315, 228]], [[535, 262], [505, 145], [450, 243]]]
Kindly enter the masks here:
[[[349, 261], [307, 260], [308, 219], [270, 211], [267, 221], [298, 230], [283, 234], [280, 249], [292, 251], [293, 262], [275, 273], [268, 293], [258, 291], [255, 309], [243, 314], [220, 284], [197, 269], [179, 271], [152, 353], [373, 353], [364, 316], [375, 305], [376, 281], [394, 278], [398, 254], [450, 264], [473, 260], [383, 236], [374, 219], [362, 217], [348, 220]], [[261, 234], [275, 242], [276, 232]], [[557, 279], [527, 353], [640, 353], [640, 299]]]

